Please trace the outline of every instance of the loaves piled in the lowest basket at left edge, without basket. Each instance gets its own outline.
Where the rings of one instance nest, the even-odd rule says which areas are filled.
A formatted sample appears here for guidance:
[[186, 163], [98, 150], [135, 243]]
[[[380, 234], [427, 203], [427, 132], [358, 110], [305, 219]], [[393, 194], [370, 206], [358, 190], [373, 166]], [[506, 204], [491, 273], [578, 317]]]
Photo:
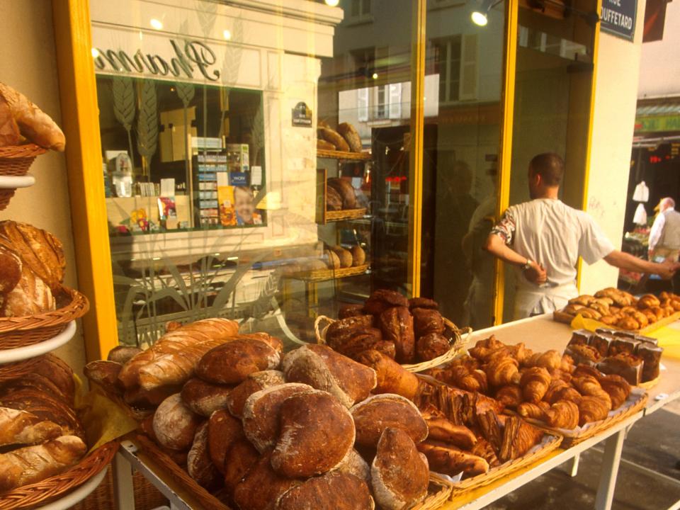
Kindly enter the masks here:
[[52, 354], [30, 363], [0, 385], [0, 495], [68, 470], [87, 450], [73, 371]]

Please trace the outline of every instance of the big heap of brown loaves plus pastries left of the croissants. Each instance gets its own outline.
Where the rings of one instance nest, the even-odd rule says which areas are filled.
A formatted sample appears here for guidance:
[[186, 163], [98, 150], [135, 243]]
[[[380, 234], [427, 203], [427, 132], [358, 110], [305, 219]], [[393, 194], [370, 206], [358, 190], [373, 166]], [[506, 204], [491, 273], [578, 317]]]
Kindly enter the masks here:
[[486, 458], [517, 458], [543, 436], [380, 351], [357, 359], [317, 344], [284, 355], [274, 336], [204, 319], [169, 324], [146, 351], [115, 348], [86, 375], [147, 409], [140, 441], [241, 510], [402, 509], [426, 497], [430, 468], [478, 475]]

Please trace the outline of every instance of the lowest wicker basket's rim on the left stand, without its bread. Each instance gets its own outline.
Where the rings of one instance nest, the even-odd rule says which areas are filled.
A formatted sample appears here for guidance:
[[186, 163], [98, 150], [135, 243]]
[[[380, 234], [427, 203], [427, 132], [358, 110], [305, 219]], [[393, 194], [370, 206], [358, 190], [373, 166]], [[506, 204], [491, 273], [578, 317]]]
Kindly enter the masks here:
[[64, 497], [106, 468], [116, 451], [118, 441], [111, 441], [86, 455], [77, 465], [60, 475], [0, 494], [0, 510], [31, 509]]

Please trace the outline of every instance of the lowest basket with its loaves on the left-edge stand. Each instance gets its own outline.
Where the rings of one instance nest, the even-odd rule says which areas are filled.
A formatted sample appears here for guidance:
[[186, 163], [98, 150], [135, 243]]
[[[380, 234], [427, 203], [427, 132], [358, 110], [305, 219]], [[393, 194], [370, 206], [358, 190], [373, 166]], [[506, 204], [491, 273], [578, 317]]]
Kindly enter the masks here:
[[30, 509], [97, 475], [115, 441], [88, 451], [73, 371], [46, 354], [0, 368], [0, 509]]

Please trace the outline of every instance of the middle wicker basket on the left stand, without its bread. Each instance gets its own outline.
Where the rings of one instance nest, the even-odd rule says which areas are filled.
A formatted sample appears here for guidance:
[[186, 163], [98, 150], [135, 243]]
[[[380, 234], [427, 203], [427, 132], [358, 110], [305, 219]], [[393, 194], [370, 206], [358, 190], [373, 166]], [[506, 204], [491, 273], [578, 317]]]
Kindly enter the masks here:
[[87, 313], [83, 294], [67, 287], [57, 297], [57, 310], [26, 317], [0, 317], [0, 349], [38, 344], [60, 334], [67, 324]]

